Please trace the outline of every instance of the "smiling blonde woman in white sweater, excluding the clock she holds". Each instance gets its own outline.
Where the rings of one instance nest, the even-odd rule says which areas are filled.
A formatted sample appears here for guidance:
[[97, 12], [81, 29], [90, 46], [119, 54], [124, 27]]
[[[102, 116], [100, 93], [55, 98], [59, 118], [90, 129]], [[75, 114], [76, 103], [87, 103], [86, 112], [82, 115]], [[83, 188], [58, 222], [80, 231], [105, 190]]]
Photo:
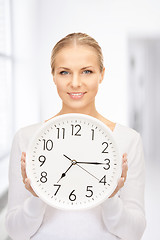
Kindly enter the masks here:
[[98, 207], [70, 212], [47, 206], [31, 188], [25, 171], [29, 140], [44, 123], [20, 129], [10, 158], [6, 216], [9, 235], [15, 240], [139, 240], [145, 229], [141, 137], [96, 110], [95, 97], [105, 72], [100, 46], [86, 34], [69, 34], [53, 48], [51, 69], [62, 100], [57, 115], [83, 113], [105, 123], [113, 131], [122, 154], [122, 176], [110, 198]]

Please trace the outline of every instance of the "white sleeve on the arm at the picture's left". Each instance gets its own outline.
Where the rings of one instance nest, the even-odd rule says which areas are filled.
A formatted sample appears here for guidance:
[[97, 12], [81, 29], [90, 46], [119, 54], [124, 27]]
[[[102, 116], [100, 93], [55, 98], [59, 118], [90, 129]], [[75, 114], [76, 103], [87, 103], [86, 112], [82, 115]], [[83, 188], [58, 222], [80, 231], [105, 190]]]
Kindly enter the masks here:
[[39, 229], [45, 203], [25, 189], [21, 176], [21, 152], [25, 147], [19, 130], [14, 137], [9, 165], [8, 211], [6, 229], [14, 240], [27, 240]]

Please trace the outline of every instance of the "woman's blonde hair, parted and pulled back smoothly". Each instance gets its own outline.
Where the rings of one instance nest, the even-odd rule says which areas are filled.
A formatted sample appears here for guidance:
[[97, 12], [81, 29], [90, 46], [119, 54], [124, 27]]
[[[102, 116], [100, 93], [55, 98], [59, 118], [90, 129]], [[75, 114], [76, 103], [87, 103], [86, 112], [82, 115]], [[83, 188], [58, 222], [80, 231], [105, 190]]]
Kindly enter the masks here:
[[100, 68], [100, 71], [102, 72], [102, 70], [103, 70], [103, 54], [102, 54], [102, 49], [99, 46], [98, 42], [94, 38], [90, 37], [89, 35], [87, 35], [85, 33], [71, 33], [71, 34], [68, 34], [66, 37], [62, 38], [59, 42], [57, 42], [52, 50], [52, 53], [51, 53], [51, 73], [52, 73], [52, 75], [54, 74], [55, 59], [56, 59], [57, 53], [64, 47], [71, 46], [73, 44], [85, 45], [85, 46], [90, 46], [90, 47], [94, 48], [94, 50], [97, 53], [99, 68]]

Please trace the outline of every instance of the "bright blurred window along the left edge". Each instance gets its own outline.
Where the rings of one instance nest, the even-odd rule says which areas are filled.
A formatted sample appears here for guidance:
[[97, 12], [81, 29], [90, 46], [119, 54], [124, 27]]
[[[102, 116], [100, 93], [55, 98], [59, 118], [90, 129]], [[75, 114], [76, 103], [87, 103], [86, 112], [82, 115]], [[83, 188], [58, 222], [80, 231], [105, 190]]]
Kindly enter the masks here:
[[8, 154], [13, 131], [11, 2], [0, 0], [0, 160]]

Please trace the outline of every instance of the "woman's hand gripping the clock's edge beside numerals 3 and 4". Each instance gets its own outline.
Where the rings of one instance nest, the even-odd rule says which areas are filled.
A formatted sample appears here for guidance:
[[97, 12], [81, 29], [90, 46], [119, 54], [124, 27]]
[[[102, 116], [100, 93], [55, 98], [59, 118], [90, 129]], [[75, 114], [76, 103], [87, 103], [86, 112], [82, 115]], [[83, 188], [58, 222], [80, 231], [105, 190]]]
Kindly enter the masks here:
[[127, 172], [128, 172], [127, 153], [124, 153], [122, 156], [122, 175], [118, 181], [118, 185], [115, 191], [110, 195], [109, 198], [114, 197], [114, 195], [124, 186], [124, 183], [127, 178]]

